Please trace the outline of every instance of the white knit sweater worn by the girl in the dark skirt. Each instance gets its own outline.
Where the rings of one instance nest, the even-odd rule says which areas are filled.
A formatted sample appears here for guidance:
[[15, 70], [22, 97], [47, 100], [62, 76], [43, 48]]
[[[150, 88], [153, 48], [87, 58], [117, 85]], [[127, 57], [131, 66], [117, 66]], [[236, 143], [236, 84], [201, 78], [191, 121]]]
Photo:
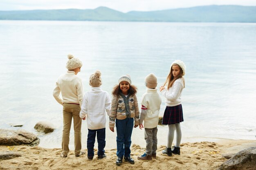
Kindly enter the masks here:
[[181, 93], [184, 83], [181, 78], [176, 79], [169, 89], [162, 90], [162, 95], [165, 97], [166, 106], [177, 106], [181, 104]]

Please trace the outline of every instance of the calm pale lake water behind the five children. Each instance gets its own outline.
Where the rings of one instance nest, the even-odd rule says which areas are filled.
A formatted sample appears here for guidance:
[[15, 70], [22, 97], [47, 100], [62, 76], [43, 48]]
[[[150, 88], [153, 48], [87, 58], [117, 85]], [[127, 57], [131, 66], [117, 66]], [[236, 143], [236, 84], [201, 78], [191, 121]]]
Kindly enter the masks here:
[[[182, 60], [182, 142], [256, 139], [255, 23], [1, 20], [0, 128], [25, 129], [39, 136], [39, 146], [61, 148], [62, 106], [52, 91], [66, 72], [69, 53], [83, 62], [78, 76], [84, 91], [90, 90], [89, 76], [97, 69], [102, 89], [110, 94], [128, 73], [138, 88], [139, 104], [146, 75], [155, 73], [161, 86], [171, 62]], [[38, 121], [49, 121], [56, 130], [36, 132]], [[9, 125], [16, 123], [24, 126]], [[106, 128], [106, 148], [116, 148], [116, 132]], [[166, 145], [167, 132], [167, 126], [159, 126], [159, 146]], [[83, 121], [83, 148], [87, 134]], [[146, 146], [144, 130], [133, 130], [132, 143]]]

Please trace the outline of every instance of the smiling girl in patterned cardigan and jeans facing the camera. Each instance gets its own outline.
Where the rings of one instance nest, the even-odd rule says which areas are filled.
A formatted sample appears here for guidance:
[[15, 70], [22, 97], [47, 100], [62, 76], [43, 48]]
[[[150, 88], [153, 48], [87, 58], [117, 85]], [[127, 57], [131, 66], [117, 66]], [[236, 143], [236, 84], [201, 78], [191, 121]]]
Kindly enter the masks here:
[[[109, 115], [109, 128], [114, 132], [117, 128], [117, 166], [124, 161], [134, 164], [130, 157], [132, 128], [139, 125], [139, 107], [137, 102], [137, 88], [131, 85], [130, 75], [119, 78], [118, 85], [112, 91], [111, 113]], [[133, 122], [135, 125], [133, 126]]]

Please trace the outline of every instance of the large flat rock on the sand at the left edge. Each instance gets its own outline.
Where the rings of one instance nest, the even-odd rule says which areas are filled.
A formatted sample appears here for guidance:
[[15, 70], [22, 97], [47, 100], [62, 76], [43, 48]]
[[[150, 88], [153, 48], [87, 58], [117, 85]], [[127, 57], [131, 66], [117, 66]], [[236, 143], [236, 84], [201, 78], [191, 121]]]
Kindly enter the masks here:
[[27, 145], [36, 146], [40, 139], [33, 133], [25, 130], [0, 129], [0, 145]]

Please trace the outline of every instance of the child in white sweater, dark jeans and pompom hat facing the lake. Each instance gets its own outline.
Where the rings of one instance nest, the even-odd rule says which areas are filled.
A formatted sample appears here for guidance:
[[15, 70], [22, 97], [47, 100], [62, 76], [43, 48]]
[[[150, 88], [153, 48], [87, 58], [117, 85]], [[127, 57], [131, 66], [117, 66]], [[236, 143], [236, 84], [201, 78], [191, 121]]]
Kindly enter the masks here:
[[103, 159], [106, 145], [106, 113], [110, 115], [111, 100], [108, 92], [101, 90], [101, 72], [95, 71], [90, 76], [90, 86], [92, 90], [85, 93], [81, 107], [80, 117], [85, 120], [87, 117], [88, 137], [87, 149], [88, 159], [94, 157], [94, 143], [97, 133], [98, 159]]

